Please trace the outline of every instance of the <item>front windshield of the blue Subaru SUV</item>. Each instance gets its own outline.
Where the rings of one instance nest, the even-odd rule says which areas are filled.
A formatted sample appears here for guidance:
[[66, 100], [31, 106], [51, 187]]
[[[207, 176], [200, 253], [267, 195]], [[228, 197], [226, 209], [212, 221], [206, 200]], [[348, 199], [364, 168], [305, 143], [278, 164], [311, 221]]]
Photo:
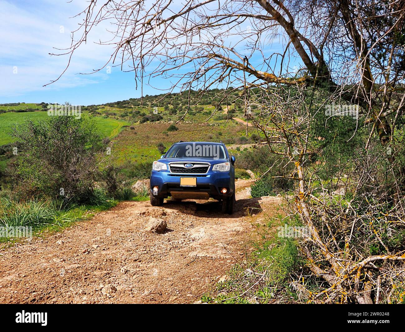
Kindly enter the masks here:
[[183, 143], [172, 146], [166, 153], [166, 158], [188, 157], [226, 159], [226, 152], [222, 144]]

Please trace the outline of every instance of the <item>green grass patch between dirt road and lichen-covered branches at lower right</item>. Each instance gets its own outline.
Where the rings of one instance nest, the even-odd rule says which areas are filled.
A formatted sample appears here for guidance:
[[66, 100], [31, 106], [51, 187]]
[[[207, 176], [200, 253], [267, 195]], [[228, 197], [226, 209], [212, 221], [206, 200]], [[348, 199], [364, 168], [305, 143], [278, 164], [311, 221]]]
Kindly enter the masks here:
[[[296, 302], [297, 296], [290, 287], [291, 275], [303, 266], [294, 239], [279, 238], [276, 227], [284, 225], [281, 214], [257, 225], [259, 239], [248, 255], [246, 263], [236, 264], [228, 272], [228, 280], [201, 298], [207, 303], [273, 303]], [[288, 221], [294, 225], [294, 220]]]

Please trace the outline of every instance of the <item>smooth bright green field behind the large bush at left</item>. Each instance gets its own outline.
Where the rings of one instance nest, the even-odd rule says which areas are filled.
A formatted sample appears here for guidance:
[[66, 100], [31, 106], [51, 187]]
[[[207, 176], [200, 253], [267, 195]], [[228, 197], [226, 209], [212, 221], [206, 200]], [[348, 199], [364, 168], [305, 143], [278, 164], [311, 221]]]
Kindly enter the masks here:
[[[26, 105], [31, 105], [31, 104], [26, 104]], [[35, 105], [35, 104], [32, 104], [32, 105]], [[13, 124], [21, 123], [26, 119], [32, 119], [34, 121], [47, 120], [48, 114], [46, 111], [21, 112], [21, 113], [7, 112], [7, 113], [0, 114], [0, 145], [8, 144], [8, 143], [12, 142], [13, 137], [8, 135], [11, 132], [11, 127], [13, 126]], [[100, 131], [100, 133], [102, 134], [102, 136], [110, 137], [110, 138], [117, 135], [122, 130], [123, 126], [129, 124], [124, 121], [108, 119], [108, 118], [104, 119], [101, 117], [94, 117], [93, 119], [96, 122], [96, 126], [97, 126], [98, 130]]]

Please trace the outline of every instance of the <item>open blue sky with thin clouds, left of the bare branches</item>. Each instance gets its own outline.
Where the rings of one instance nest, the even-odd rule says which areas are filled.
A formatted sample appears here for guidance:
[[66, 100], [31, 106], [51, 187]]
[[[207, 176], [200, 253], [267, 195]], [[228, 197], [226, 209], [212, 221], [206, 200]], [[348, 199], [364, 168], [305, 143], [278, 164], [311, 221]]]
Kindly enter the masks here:
[[[0, 104], [68, 101], [72, 105], [92, 105], [141, 96], [134, 73], [122, 72], [119, 66], [91, 75], [78, 74], [102, 67], [113, 53], [112, 47], [94, 43], [111, 39], [107, 26], [92, 30], [87, 43], [75, 51], [66, 73], [43, 87], [65, 69], [67, 56], [49, 53], [70, 45], [70, 32], [82, 19], [74, 16], [87, 5], [85, 0], [0, 0]], [[168, 89], [171, 83], [156, 77], [151, 85]], [[160, 93], [163, 91], [151, 86], [143, 87], [144, 95]]]

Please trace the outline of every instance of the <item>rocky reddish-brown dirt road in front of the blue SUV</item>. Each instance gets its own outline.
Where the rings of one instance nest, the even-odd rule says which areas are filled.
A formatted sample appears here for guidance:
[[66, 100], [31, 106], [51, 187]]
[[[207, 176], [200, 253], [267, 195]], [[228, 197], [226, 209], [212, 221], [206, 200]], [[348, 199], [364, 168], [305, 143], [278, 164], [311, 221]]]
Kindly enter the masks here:
[[[2, 249], [0, 303], [196, 302], [251, 250], [246, 210], [257, 214], [263, 201], [247, 198], [250, 183], [237, 181], [232, 216], [216, 201], [123, 202], [61, 233]], [[143, 230], [151, 216], [167, 222], [165, 233]]]

